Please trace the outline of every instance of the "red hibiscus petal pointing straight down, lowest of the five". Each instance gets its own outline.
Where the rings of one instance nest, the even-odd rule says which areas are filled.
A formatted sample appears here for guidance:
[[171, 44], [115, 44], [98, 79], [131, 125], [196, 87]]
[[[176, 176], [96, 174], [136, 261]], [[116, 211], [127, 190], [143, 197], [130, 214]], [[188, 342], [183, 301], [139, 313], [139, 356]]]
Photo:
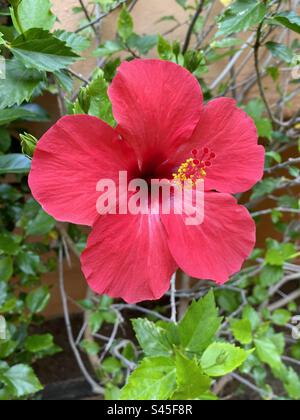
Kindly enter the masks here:
[[159, 299], [177, 268], [159, 216], [147, 215], [98, 218], [81, 262], [91, 289], [128, 303]]

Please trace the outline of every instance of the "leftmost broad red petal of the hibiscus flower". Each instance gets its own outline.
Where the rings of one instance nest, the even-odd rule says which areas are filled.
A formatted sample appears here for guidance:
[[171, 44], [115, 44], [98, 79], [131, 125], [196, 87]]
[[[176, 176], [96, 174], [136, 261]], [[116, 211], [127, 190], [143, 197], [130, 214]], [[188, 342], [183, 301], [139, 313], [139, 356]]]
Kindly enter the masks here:
[[118, 179], [137, 165], [134, 152], [98, 118], [60, 119], [38, 142], [29, 186], [45, 211], [59, 221], [92, 225], [100, 179]]

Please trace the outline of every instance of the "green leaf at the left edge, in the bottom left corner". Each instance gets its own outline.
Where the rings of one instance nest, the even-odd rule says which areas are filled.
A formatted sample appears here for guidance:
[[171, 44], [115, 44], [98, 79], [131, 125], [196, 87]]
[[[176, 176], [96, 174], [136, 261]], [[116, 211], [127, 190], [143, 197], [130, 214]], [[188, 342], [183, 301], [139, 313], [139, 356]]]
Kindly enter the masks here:
[[0, 380], [18, 398], [35, 394], [43, 389], [31, 367], [23, 364], [15, 365], [5, 372], [0, 371]]

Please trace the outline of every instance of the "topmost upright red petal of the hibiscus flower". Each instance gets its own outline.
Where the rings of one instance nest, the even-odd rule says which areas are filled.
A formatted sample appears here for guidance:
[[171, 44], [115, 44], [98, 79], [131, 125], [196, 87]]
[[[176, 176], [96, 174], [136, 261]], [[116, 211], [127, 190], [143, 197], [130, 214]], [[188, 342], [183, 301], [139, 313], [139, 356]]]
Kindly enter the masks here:
[[191, 137], [203, 103], [197, 79], [162, 60], [124, 62], [109, 96], [120, 132], [140, 159], [155, 158], [157, 163]]

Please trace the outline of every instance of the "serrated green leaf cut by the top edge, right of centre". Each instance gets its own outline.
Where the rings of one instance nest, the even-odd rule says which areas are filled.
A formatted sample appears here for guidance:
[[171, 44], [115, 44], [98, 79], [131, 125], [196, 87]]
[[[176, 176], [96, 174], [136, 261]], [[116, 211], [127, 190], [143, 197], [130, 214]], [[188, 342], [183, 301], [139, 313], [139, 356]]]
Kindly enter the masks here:
[[237, 0], [218, 22], [216, 36], [226, 36], [237, 32], [248, 31], [252, 26], [262, 22], [267, 13], [267, 6], [257, 0]]

